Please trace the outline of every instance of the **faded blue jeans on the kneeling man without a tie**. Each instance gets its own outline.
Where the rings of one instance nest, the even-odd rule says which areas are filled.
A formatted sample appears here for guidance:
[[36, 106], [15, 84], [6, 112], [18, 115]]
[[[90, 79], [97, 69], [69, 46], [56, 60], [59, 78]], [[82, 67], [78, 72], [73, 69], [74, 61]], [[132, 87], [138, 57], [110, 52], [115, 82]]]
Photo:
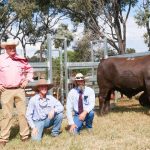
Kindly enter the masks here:
[[52, 134], [58, 135], [60, 132], [61, 124], [63, 120], [63, 113], [56, 114], [53, 119], [46, 118], [45, 120], [34, 121], [36, 128], [38, 129], [37, 136], [32, 136], [32, 140], [40, 141], [42, 139], [44, 128], [52, 128]]

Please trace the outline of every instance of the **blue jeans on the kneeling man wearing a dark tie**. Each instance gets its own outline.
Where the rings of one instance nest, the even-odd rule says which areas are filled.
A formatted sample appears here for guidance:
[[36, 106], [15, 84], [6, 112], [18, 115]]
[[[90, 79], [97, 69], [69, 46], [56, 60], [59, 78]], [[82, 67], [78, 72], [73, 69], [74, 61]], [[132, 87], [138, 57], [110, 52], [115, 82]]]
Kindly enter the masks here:
[[85, 126], [86, 128], [92, 128], [92, 124], [93, 124], [93, 119], [94, 119], [94, 111], [91, 110], [85, 117], [85, 120], [79, 120], [79, 114], [77, 112], [75, 112], [74, 115], [74, 123], [76, 124], [77, 128], [76, 131], [77, 133], [80, 132], [82, 126], [83, 126], [83, 122], [85, 122]]

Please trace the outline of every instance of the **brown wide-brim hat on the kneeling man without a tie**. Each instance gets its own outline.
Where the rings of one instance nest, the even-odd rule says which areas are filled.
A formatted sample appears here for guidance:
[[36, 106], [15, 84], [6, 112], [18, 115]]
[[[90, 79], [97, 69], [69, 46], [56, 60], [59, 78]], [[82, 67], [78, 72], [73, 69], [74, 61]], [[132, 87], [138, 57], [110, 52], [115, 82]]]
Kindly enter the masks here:
[[51, 88], [54, 86], [53, 84], [48, 83], [48, 81], [45, 80], [45, 79], [39, 79], [39, 81], [36, 83], [36, 85], [35, 85], [35, 87], [33, 88], [33, 90], [34, 90], [34, 91], [38, 91], [38, 88], [39, 88], [40, 86], [43, 86], [43, 85], [47, 86], [47, 87], [48, 87], [48, 90], [51, 89]]

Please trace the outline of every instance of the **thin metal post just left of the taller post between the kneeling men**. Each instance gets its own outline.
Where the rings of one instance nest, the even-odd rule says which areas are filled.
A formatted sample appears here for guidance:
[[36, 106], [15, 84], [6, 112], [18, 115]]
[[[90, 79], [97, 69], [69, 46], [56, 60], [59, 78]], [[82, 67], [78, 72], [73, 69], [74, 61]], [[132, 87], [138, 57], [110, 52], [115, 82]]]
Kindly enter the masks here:
[[60, 90], [61, 90], [61, 103], [64, 105], [64, 87], [63, 87], [63, 64], [62, 64], [62, 49], [59, 48], [60, 56]]

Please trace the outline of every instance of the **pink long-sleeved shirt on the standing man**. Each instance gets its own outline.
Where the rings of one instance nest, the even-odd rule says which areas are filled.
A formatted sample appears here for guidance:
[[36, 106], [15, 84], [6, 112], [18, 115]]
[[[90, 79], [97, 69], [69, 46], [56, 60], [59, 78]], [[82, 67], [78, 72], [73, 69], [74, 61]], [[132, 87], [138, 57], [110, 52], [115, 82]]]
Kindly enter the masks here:
[[16, 55], [12, 60], [9, 55], [0, 55], [0, 84], [4, 87], [18, 87], [25, 79], [33, 81], [33, 69], [27, 60]]

